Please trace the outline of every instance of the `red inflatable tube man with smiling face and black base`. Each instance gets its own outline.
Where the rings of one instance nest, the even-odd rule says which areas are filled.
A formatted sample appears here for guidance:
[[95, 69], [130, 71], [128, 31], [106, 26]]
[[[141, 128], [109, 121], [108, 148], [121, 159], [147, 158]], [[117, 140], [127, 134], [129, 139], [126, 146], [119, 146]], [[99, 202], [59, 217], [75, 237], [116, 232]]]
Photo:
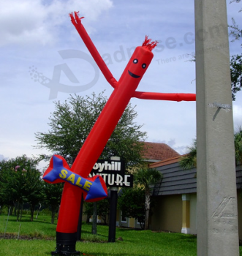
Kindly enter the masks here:
[[[194, 101], [196, 100], [196, 95], [136, 91], [140, 80], [143, 78], [146, 69], [153, 59], [154, 55], [151, 50], [153, 50], [157, 44], [156, 41], [151, 42], [151, 39], [148, 39], [147, 36], [145, 37], [143, 45], [135, 49], [121, 78], [117, 81], [113, 78], [105, 61], [103, 61], [97, 48], [95, 48], [86, 29], [84, 29], [81, 23], [83, 17], [79, 18], [78, 12], [75, 12], [74, 15], [70, 14], [70, 18], [107, 82], [114, 88], [113, 93], [107, 100], [102, 113], [100, 113], [99, 118], [97, 118], [94, 127], [91, 129], [71, 168], [72, 173], [87, 178], [95, 162], [97, 162], [97, 159], [99, 159], [99, 156], [102, 154], [107, 140], [113, 133], [119, 119], [124, 113], [126, 105], [128, 105], [132, 97], [139, 99]], [[75, 243], [81, 198], [82, 191], [77, 186], [65, 182], [56, 227], [56, 254], [63, 253], [64, 255], [68, 255], [69, 253], [73, 255], [78, 253], [75, 252]]]

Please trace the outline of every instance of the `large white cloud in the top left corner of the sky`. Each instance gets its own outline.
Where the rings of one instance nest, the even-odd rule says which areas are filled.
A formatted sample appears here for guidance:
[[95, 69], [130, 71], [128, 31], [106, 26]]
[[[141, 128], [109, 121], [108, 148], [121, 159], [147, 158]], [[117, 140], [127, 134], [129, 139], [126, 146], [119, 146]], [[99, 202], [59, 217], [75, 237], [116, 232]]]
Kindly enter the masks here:
[[43, 4], [41, 0], [1, 0], [0, 46], [53, 44], [58, 40], [58, 26], [69, 24], [69, 12], [80, 10], [81, 15], [88, 15], [88, 21], [91, 21], [97, 20], [112, 5], [110, 0], [54, 0], [48, 4]]

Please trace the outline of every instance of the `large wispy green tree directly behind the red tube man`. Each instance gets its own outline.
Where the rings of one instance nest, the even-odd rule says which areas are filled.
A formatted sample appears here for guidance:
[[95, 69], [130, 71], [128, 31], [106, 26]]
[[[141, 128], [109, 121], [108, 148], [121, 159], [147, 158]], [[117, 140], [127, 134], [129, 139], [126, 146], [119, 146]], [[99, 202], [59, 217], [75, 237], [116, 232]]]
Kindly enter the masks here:
[[[99, 113], [107, 102], [107, 97], [100, 93], [91, 97], [69, 97], [69, 102], [55, 102], [55, 111], [50, 116], [50, 130], [37, 132], [36, 148], [47, 148], [67, 159], [72, 164], [88, 133], [91, 131]], [[141, 125], [135, 123], [137, 113], [129, 104], [118, 125], [105, 146], [101, 159], [121, 156], [126, 167], [142, 163], [141, 150], [146, 132], [141, 132]], [[45, 157], [46, 158], [46, 157]]]

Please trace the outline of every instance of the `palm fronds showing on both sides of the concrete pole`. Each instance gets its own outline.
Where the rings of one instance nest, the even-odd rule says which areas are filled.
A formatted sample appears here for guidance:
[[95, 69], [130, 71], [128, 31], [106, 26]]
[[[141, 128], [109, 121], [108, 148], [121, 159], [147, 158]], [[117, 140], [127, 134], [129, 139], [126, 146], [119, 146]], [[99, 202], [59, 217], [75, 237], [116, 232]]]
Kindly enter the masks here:
[[[242, 164], [242, 127], [238, 127], [234, 134], [235, 140], [235, 162], [236, 165]], [[183, 169], [192, 169], [197, 167], [197, 141], [194, 140], [192, 146], [189, 147], [188, 154], [181, 157], [179, 161]]]

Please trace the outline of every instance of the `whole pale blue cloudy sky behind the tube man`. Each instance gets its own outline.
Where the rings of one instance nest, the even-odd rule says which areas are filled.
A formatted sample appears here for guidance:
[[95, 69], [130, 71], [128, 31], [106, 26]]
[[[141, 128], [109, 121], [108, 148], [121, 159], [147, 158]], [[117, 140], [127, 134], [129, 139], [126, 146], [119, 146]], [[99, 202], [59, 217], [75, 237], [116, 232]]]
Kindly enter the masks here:
[[[195, 93], [194, 1], [0, 0], [0, 160], [37, 149], [36, 132], [48, 132], [54, 102], [113, 88], [105, 80], [69, 19], [80, 11], [107, 67], [118, 80], [145, 35], [158, 40], [138, 91]], [[241, 24], [241, 4], [227, 1], [228, 23]], [[232, 38], [230, 38], [230, 41]], [[241, 53], [230, 42], [230, 55]], [[196, 138], [195, 102], [131, 99], [146, 141], [185, 154]], [[233, 102], [234, 127], [242, 125], [242, 91]]]

